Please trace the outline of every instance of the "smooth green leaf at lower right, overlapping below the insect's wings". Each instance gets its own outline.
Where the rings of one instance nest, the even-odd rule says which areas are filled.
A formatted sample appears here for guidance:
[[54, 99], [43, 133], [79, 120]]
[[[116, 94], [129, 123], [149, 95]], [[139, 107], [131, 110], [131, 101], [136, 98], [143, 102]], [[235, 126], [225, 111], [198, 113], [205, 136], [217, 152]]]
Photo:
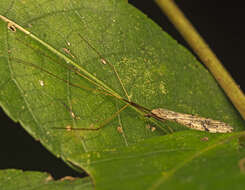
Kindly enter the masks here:
[[239, 136], [178, 132], [131, 147], [87, 153], [77, 160], [89, 158], [87, 168], [103, 190], [239, 190], [245, 186], [245, 151]]

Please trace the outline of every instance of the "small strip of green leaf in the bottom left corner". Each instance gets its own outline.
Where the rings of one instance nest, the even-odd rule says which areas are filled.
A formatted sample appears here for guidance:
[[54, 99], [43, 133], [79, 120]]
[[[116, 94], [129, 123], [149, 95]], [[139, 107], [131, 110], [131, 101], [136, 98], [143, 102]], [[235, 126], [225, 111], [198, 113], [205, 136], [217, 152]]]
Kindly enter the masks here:
[[74, 190], [93, 189], [92, 183], [88, 177], [83, 179], [70, 178], [60, 181], [54, 181], [47, 173], [41, 172], [23, 172], [21, 170], [0, 170], [0, 189], [3, 190]]

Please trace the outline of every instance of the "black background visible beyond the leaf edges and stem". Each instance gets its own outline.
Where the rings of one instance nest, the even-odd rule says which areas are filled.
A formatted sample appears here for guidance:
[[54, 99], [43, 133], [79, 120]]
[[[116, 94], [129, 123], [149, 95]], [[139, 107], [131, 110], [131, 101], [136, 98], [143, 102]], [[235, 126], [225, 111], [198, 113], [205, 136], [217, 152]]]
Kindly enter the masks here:
[[[189, 46], [151, 0], [131, 0], [135, 7], [158, 23], [179, 43]], [[181, 10], [204, 37], [241, 88], [245, 89], [244, 48], [245, 8], [242, 1], [185, 0], [177, 1]], [[239, 4], [240, 3], [240, 4]], [[233, 4], [233, 5], [231, 5]], [[46, 171], [56, 179], [82, 176], [52, 156], [32, 139], [18, 124], [0, 112], [0, 169]]]

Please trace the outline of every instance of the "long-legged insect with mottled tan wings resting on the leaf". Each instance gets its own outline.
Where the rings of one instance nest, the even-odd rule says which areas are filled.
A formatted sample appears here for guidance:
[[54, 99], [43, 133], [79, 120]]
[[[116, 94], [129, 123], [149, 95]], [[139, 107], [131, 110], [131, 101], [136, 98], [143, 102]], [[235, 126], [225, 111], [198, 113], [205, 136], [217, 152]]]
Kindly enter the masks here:
[[[16, 24], [12, 24], [14, 27], [18, 28], [19, 26]], [[178, 112], [174, 112], [171, 110], [167, 110], [167, 109], [163, 109], [163, 108], [157, 108], [157, 109], [149, 109], [146, 107], [143, 107], [135, 102], [132, 102], [130, 100], [129, 95], [127, 94], [126, 89], [124, 88], [124, 85], [116, 71], [116, 69], [114, 68], [114, 66], [107, 61], [105, 58], [102, 57], [102, 55], [84, 38], [82, 37], [80, 34], [78, 34], [80, 36], [80, 38], [91, 48], [94, 50], [94, 52], [98, 55], [98, 57], [101, 60], [101, 63], [104, 65], [109, 65], [112, 70], [114, 71], [115, 75], [117, 76], [118, 81], [120, 82], [120, 85], [123, 89], [123, 91], [125, 92], [126, 96], [128, 99], [122, 98], [121, 96], [119, 96], [117, 93], [115, 93], [114, 91], [112, 91], [109, 87], [107, 87], [104, 83], [98, 81], [96, 78], [94, 78], [93, 76], [91, 76], [90, 74], [86, 73], [86, 75], [82, 74], [81, 72], [79, 72], [79, 70], [77, 69], [73, 69], [72, 67], [68, 67], [69, 69], [71, 69], [74, 73], [76, 73], [77, 75], [85, 78], [86, 80], [88, 80], [89, 82], [93, 83], [93, 85], [99, 87], [99, 89], [97, 89], [96, 91], [100, 94], [104, 94], [107, 96], [112, 96], [118, 100], [120, 100], [121, 102], [125, 103], [125, 106], [123, 106], [119, 111], [117, 111], [112, 117], [110, 117], [107, 121], [110, 121], [111, 119], [113, 119], [116, 115], [118, 115], [121, 111], [123, 111], [124, 109], [126, 109], [128, 106], [131, 106], [133, 109], [135, 109], [136, 111], [144, 114], [146, 117], [149, 118], [154, 118], [158, 121], [173, 121], [173, 122], [177, 122], [181, 125], [184, 125], [190, 129], [195, 129], [195, 130], [199, 130], [199, 131], [207, 131], [210, 133], [229, 133], [232, 132], [233, 128], [221, 121], [216, 121], [210, 118], [204, 118], [204, 117], [199, 117], [199, 116], [194, 116], [194, 115], [190, 115], [190, 114], [184, 114], [184, 113], [178, 113]], [[45, 42], [44, 42], [45, 43]], [[65, 51], [67, 52], [67, 51]], [[68, 52], [68, 54], [70, 55], [70, 53]], [[51, 72], [37, 66], [34, 65], [32, 63], [27, 63], [24, 62], [23, 60], [17, 59], [17, 58], [11, 58], [12, 60], [15, 60], [16, 62], [19, 63], [24, 63], [26, 65], [29, 65], [31, 67], [35, 67], [43, 72], [46, 72], [47, 74], [49, 74], [50, 76], [57, 78], [59, 80], [62, 80], [66, 83], [69, 83], [71, 86], [75, 86], [75, 87], [79, 87], [82, 88], [84, 90], [88, 90], [88, 91], [94, 91], [94, 89], [90, 89], [90, 88], [85, 88], [82, 86], [78, 86], [76, 84], [73, 84], [71, 82], [68, 82], [62, 78], [59, 78], [58, 76], [52, 74]], [[42, 84], [44, 83], [40, 83], [41, 86], [43, 86]], [[74, 113], [71, 111], [71, 113], [73, 114], [72, 117], [74, 116]], [[106, 124], [106, 122], [105, 122]], [[69, 126], [69, 130], [99, 130], [103, 127], [104, 125], [101, 125], [100, 127], [97, 128], [74, 128]], [[64, 129], [64, 128], [57, 128], [57, 129]]]

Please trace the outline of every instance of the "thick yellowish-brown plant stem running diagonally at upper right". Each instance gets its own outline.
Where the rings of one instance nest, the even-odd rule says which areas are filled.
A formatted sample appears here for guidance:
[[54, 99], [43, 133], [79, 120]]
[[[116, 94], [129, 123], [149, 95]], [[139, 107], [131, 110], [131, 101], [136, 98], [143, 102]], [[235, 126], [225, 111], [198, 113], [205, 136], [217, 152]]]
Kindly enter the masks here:
[[156, 0], [156, 3], [213, 74], [233, 105], [245, 119], [245, 96], [216, 55], [208, 47], [208, 44], [198, 34], [173, 0]]

